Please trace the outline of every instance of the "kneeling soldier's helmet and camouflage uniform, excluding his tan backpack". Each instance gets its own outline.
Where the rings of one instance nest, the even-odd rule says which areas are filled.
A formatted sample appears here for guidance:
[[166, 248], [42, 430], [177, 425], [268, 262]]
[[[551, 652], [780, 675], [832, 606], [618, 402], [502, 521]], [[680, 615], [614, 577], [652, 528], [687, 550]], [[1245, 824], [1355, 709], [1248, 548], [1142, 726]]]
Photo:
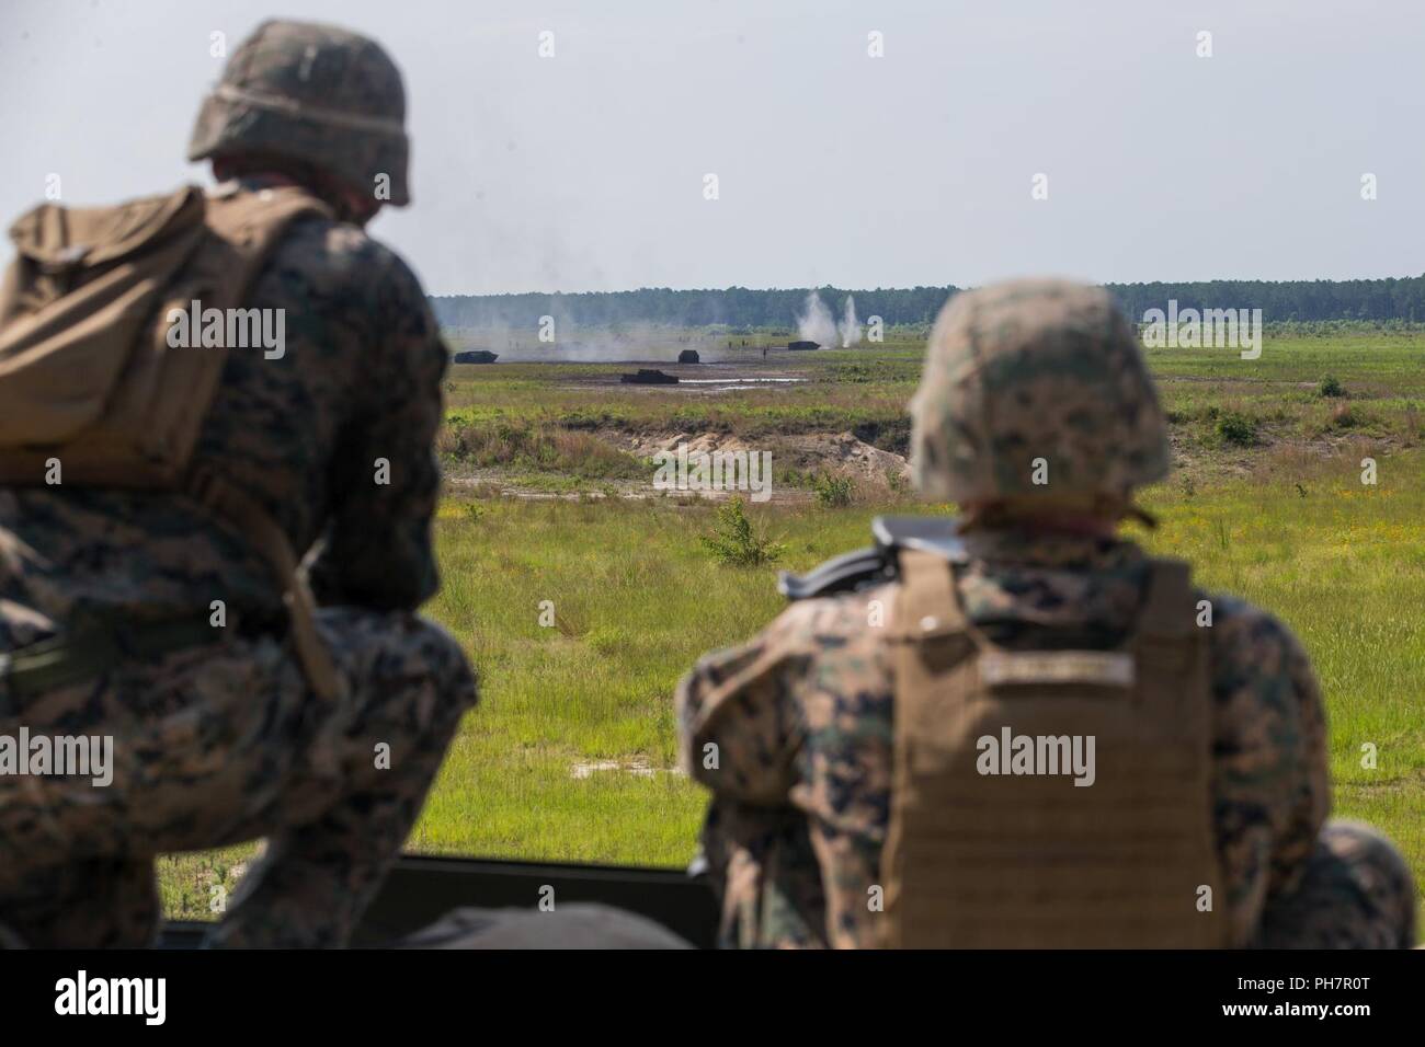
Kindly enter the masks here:
[[[265, 850], [211, 942], [343, 944], [476, 699], [456, 641], [413, 614], [439, 585], [447, 352], [416, 276], [361, 228], [382, 175], [409, 199], [403, 115], [375, 43], [274, 21], [234, 53], [190, 150], [239, 191], [295, 181], [351, 219], [299, 219], [268, 259], [247, 305], [285, 311], [285, 353], [231, 352], [195, 456], [312, 550], [338, 705], [312, 699], [268, 564], [190, 499], [0, 489], [0, 652], [86, 621], [128, 652], [41, 695], [0, 677], [0, 734], [115, 739], [108, 788], [0, 778], [0, 924], [30, 944], [142, 946], [157, 853], [254, 838]], [[134, 655], [130, 625], [214, 600], [211, 642]]]

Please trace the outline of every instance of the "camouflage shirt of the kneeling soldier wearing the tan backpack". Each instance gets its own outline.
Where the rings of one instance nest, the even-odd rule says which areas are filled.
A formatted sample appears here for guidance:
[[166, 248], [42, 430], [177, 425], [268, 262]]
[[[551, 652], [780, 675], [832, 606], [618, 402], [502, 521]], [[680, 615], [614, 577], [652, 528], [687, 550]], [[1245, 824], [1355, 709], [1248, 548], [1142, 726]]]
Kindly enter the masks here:
[[[326, 530], [312, 568], [323, 603], [416, 607], [437, 584], [430, 440], [447, 360], [419, 283], [359, 228], [306, 217], [245, 305], [281, 316], [282, 342], [229, 350], [195, 464], [258, 499], [299, 553]], [[191, 497], [63, 483], [0, 489], [0, 595], [33, 611], [0, 615], [0, 650], [76, 611], [279, 611], [251, 543]]]

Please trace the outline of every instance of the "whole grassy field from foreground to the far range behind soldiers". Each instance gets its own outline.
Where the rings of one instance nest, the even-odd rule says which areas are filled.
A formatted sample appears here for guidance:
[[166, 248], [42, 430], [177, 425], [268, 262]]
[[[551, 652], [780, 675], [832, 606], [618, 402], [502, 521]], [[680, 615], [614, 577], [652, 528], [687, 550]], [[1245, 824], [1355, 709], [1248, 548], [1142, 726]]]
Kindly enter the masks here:
[[[566, 494], [607, 494], [610, 477], [646, 467], [603, 443], [606, 430], [772, 439], [859, 427], [868, 443], [903, 450], [919, 353], [901, 343], [798, 355], [805, 385], [725, 397], [577, 383], [620, 369], [603, 365], [457, 368], [442, 446], [452, 474], [503, 467], [534, 490], [561, 477], [553, 487]], [[1180, 469], [1144, 493], [1163, 521], [1144, 543], [1297, 631], [1327, 699], [1334, 813], [1388, 832], [1425, 879], [1422, 360], [1421, 336], [1371, 333], [1268, 336], [1254, 362], [1223, 349], [1151, 353]], [[792, 366], [787, 355], [774, 365]], [[1347, 395], [1324, 396], [1327, 377]], [[554, 450], [539, 450], [542, 439]], [[1367, 456], [1374, 486], [1361, 483]], [[452, 486], [436, 524], [445, 588], [428, 613], [466, 645], [482, 702], [409, 846], [685, 863], [703, 798], [673, 769], [671, 694], [703, 651], [778, 613], [775, 568], [717, 566], [697, 541], [712, 507], [695, 500], [493, 490]], [[946, 510], [891, 493], [841, 509], [750, 507], [794, 570], [865, 544], [878, 511]], [[1374, 768], [1362, 766], [1367, 744]], [[207, 915], [208, 887], [231, 886], [249, 853], [164, 859], [165, 906]]]

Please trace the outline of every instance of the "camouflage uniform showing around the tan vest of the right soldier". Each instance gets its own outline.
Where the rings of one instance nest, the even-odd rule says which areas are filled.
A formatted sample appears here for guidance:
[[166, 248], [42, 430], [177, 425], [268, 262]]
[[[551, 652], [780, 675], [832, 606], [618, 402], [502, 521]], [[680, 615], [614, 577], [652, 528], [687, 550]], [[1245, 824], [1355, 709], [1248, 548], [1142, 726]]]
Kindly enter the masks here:
[[[1147, 558], [1127, 541], [966, 536], [966, 615], [1010, 650], [1104, 648], [1134, 627]], [[1213, 601], [1213, 815], [1234, 940], [1404, 946], [1414, 887], [1364, 826], [1322, 825], [1325, 722], [1291, 632]], [[678, 688], [683, 759], [712, 791], [703, 845], [738, 947], [875, 943], [893, 771], [884, 637], [895, 584], [807, 600], [751, 642], [708, 655]], [[875, 614], [874, 614], [875, 611]], [[869, 625], [881, 621], [879, 627]], [[705, 766], [717, 746], [717, 768]]]

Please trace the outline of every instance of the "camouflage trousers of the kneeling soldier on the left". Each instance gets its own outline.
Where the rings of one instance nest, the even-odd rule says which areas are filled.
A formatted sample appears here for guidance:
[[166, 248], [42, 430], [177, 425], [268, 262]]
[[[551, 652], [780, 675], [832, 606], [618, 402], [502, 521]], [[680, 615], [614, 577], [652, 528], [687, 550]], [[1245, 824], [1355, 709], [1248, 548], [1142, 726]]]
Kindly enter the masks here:
[[[16, 708], [7, 731], [114, 735], [114, 781], [0, 781], [0, 923], [31, 947], [142, 947], [161, 917], [158, 852], [259, 836], [215, 946], [335, 947], [380, 886], [420, 812], [470, 670], [437, 627], [403, 611], [328, 608], [318, 625], [348, 692], [316, 704], [272, 637], [229, 637]], [[378, 746], [389, 746], [385, 758]]]

